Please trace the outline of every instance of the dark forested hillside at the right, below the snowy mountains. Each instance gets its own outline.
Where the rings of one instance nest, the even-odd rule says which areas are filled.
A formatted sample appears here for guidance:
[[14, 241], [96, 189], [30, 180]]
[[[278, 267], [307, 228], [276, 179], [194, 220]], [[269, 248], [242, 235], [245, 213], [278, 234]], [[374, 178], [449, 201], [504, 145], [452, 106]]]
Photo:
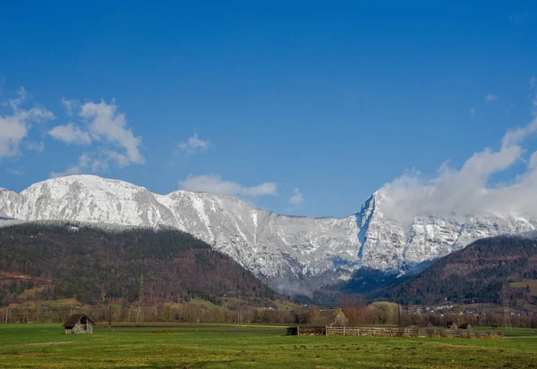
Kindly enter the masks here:
[[405, 305], [502, 304], [501, 290], [509, 284], [511, 306], [535, 308], [537, 240], [521, 236], [480, 239], [445, 256], [416, 278], [405, 281], [386, 298]]

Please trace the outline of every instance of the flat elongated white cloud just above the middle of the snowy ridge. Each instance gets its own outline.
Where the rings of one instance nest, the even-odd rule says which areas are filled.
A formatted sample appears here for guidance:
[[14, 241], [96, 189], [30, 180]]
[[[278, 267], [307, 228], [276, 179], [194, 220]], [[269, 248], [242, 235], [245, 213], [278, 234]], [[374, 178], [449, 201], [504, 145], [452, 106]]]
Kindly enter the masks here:
[[222, 180], [219, 175], [215, 174], [202, 174], [199, 176], [190, 174], [186, 180], [179, 180], [179, 188], [187, 191], [209, 192], [237, 197], [277, 195], [277, 184], [274, 182], [265, 182], [254, 187], [243, 187], [237, 182]]

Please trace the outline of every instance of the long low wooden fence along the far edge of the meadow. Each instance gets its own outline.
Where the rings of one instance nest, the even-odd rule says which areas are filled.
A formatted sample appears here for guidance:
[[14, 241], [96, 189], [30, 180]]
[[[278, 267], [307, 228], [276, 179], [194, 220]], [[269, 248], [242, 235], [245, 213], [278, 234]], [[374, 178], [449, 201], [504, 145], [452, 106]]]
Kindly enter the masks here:
[[503, 339], [503, 334], [499, 331], [490, 333], [471, 330], [440, 330], [434, 328], [326, 327], [325, 334], [327, 336]]

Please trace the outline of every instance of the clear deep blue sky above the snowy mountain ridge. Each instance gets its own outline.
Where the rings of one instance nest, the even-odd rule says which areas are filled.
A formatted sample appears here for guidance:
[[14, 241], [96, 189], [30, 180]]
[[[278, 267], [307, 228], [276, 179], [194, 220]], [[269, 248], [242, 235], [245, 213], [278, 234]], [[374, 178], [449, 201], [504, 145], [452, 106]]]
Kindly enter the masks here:
[[94, 173], [345, 216], [533, 120], [531, 1], [72, 3], [3, 4], [0, 187]]

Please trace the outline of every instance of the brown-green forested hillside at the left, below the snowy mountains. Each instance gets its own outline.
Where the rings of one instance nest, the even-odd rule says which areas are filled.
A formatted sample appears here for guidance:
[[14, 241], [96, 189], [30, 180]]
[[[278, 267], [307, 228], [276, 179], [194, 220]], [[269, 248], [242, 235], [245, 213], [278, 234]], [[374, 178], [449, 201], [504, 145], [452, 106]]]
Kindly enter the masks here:
[[76, 298], [144, 304], [241, 295], [263, 306], [275, 293], [230, 257], [181, 231], [105, 231], [73, 223], [0, 228], [0, 303]]

